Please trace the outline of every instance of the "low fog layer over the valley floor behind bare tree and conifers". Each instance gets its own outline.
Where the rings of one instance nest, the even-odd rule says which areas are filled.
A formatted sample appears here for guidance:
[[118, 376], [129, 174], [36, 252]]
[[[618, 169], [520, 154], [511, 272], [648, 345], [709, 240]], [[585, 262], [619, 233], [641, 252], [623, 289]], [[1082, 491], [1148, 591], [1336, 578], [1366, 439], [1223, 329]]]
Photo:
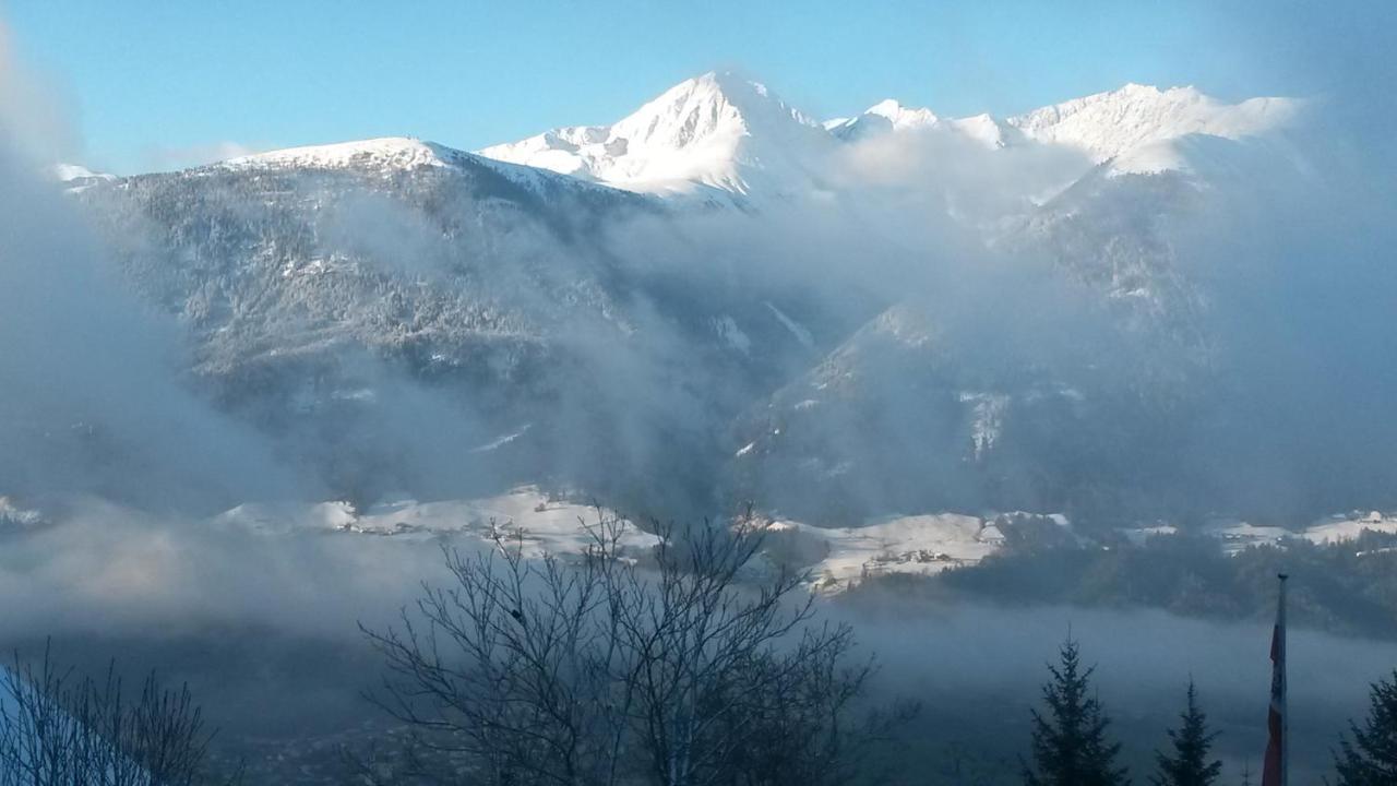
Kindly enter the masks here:
[[[472, 540], [457, 538], [469, 547]], [[63, 663], [187, 680], [221, 744], [296, 740], [384, 720], [360, 698], [380, 662], [356, 629], [390, 624], [418, 580], [440, 582], [436, 538], [256, 534], [140, 520], [94, 508], [0, 550], [0, 646], [32, 655], [45, 636]], [[1160, 611], [940, 607], [880, 599], [821, 600], [856, 625], [880, 666], [873, 698], [911, 698], [922, 713], [901, 733], [909, 766], [1017, 772], [1028, 712], [1062, 641], [1078, 639], [1127, 761], [1143, 768], [1175, 724], [1187, 681], [1222, 737], [1229, 778], [1259, 768], [1266, 744], [1270, 627], [1211, 624]], [[1370, 681], [1397, 645], [1291, 632], [1291, 730], [1296, 778], [1329, 766]], [[950, 778], [950, 772], [943, 772]], [[1303, 776], [1302, 776], [1303, 773]]]

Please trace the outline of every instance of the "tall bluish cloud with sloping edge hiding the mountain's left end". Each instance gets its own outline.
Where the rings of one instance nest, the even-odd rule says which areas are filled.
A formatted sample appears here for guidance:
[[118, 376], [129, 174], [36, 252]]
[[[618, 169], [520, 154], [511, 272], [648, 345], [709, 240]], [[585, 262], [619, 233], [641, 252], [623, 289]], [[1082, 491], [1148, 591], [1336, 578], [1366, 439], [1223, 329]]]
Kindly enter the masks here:
[[56, 122], [31, 113], [43, 94], [0, 63], [0, 494], [162, 509], [285, 494], [296, 473], [183, 386], [177, 326], [134, 298], [73, 201], [38, 178], [47, 151], [25, 133]]

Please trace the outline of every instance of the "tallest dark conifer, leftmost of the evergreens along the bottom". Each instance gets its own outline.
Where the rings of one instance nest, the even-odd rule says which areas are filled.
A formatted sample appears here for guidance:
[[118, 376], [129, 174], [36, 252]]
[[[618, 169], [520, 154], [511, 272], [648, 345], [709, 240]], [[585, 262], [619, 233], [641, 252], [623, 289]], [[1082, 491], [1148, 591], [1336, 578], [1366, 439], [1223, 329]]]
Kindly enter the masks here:
[[1059, 666], [1048, 666], [1044, 684], [1046, 715], [1034, 710], [1034, 768], [1024, 766], [1027, 786], [1126, 786], [1126, 768], [1116, 765], [1120, 744], [1106, 737], [1111, 719], [1090, 694], [1091, 674], [1083, 669], [1077, 642], [1062, 646]]

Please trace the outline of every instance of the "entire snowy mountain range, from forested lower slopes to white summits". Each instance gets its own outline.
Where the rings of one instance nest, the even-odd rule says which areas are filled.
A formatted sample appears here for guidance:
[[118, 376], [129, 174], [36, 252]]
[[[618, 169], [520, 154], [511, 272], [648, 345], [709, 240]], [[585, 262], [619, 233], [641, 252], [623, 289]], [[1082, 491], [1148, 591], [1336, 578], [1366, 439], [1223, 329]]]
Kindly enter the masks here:
[[[1122, 435], [1166, 438], [1137, 413], [1186, 411], [1179, 392], [1206, 387], [1206, 296], [1173, 231], [1204, 204], [1199, 182], [1296, 112], [1127, 85], [1010, 119], [890, 99], [821, 124], [710, 73], [613, 124], [479, 152], [400, 137], [300, 147], [92, 180], [77, 199], [116, 229], [134, 288], [189, 329], [193, 376], [346, 495], [461, 494], [462, 473], [436, 470], [460, 453], [492, 480], [683, 485], [698, 503], [745, 495], [820, 523], [1056, 509], [1129, 498], [1165, 471], [1113, 450]], [[873, 144], [897, 134], [914, 144]], [[1051, 196], [957, 227], [996, 262], [1048, 267], [1032, 273], [1045, 285], [967, 309], [1020, 324], [1070, 288], [1092, 336], [1067, 344], [1090, 351], [947, 333], [946, 303], [915, 281], [869, 281], [880, 257], [951, 263], [840, 211], [886, 207], [895, 232], [946, 203], [859, 192], [844, 154], [935, 134], [981, 148], [946, 148], [983, 157], [971, 176], [1006, 161], [996, 176], [1013, 178], [1034, 145], [1080, 151]], [[823, 220], [852, 242], [805, 242]], [[467, 425], [443, 427], [451, 413]]]

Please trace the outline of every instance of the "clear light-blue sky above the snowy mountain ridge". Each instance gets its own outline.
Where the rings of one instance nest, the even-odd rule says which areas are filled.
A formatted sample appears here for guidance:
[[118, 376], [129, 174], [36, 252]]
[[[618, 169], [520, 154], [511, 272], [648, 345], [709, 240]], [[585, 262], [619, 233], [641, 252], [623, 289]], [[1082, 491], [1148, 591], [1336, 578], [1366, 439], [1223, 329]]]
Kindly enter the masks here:
[[225, 143], [408, 134], [476, 148], [617, 119], [715, 67], [820, 117], [887, 97], [1004, 115], [1126, 81], [1224, 98], [1317, 90], [1296, 62], [1319, 56], [1289, 35], [1315, 17], [1282, 6], [0, 0], [0, 21], [63, 92], [74, 157], [129, 173]]

